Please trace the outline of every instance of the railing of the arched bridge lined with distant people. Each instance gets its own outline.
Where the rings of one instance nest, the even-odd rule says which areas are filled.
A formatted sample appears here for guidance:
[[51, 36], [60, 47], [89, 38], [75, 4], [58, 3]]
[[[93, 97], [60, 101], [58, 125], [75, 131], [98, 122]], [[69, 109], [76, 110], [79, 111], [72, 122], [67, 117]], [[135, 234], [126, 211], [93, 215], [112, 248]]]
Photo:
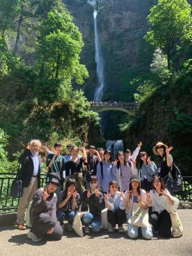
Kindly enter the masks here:
[[93, 108], [98, 107], [123, 107], [123, 108], [132, 108], [137, 107], [137, 102], [90, 102], [90, 106]]

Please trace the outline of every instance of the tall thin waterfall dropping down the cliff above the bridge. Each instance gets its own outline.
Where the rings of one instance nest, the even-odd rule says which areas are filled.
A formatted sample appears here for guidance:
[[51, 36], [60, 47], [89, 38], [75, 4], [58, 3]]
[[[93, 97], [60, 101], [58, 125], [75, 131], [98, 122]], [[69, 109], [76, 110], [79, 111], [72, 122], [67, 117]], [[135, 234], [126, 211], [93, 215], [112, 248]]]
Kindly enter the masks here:
[[97, 83], [98, 87], [95, 91], [94, 101], [101, 102], [104, 93], [104, 65], [99, 48], [99, 35], [97, 31], [97, 10], [93, 12], [94, 33], [95, 33], [95, 62], [97, 64]]

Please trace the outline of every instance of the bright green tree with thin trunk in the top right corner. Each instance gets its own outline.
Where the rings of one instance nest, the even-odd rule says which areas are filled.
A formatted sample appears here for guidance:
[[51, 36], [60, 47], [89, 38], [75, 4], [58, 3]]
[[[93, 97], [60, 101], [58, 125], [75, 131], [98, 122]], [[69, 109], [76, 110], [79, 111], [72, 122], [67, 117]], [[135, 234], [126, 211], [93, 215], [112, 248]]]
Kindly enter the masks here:
[[171, 70], [171, 51], [182, 39], [191, 37], [191, 6], [186, 0], [158, 0], [148, 15], [151, 29], [144, 39], [166, 53]]

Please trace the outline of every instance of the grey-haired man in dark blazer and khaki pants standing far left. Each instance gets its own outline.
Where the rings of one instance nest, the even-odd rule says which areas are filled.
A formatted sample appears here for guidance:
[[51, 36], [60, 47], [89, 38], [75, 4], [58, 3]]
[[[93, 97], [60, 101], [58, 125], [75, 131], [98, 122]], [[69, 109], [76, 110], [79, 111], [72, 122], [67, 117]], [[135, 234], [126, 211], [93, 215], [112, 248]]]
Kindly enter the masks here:
[[32, 196], [35, 194], [37, 188], [40, 188], [40, 148], [40, 140], [31, 140], [23, 154], [19, 157], [21, 170], [19, 171], [18, 179], [22, 181], [23, 186], [23, 196], [19, 199], [19, 206], [17, 209], [17, 224], [19, 230], [26, 230], [26, 226], [24, 226], [26, 204], [28, 205], [32, 200]]

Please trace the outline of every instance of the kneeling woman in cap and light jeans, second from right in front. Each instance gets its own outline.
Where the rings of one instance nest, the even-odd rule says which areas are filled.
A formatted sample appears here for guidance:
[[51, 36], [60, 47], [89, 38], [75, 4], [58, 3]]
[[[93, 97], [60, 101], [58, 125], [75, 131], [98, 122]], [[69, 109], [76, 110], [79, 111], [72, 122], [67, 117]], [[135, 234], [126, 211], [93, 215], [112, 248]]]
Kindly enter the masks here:
[[[127, 219], [130, 219], [133, 216], [133, 203], [139, 203], [140, 207], [147, 209], [148, 204], [146, 201], [146, 192], [141, 189], [140, 178], [137, 175], [133, 175], [131, 177], [131, 181], [129, 183], [129, 188], [125, 192], [126, 197], [126, 215]], [[128, 237], [132, 239], [138, 237], [139, 227], [128, 223]], [[151, 226], [148, 223], [147, 227], [142, 227], [142, 237], [144, 239], [151, 239], [153, 237], [153, 232]]]

